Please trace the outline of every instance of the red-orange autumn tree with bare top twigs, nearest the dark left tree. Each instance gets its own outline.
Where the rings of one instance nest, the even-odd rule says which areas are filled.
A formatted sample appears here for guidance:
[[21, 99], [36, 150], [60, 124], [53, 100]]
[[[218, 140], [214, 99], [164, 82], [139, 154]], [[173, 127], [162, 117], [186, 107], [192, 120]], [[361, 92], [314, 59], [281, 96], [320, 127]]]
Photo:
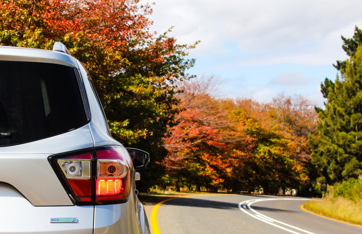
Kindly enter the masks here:
[[178, 124], [165, 139], [169, 155], [163, 163], [178, 190], [181, 186], [215, 190], [238, 154], [231, 147], [237, 133], [230, 128], [220, 101], [208, 93], [209, 81], [184, 83]]

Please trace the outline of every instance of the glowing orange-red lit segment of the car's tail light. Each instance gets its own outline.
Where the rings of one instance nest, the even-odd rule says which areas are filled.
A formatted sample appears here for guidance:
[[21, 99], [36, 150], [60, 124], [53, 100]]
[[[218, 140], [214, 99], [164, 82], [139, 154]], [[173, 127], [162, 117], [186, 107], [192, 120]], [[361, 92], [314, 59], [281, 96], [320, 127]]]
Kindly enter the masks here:
[[117, 195], [123, 193], [122, 179], [97, 179], [96, 195]]

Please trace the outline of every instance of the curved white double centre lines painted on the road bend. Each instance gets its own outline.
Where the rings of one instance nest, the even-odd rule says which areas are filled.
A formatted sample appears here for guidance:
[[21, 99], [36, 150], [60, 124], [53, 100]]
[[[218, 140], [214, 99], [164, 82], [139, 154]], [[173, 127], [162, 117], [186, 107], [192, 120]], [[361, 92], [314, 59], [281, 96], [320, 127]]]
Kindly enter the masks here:
[[[241, 211], [243, 211], [244, 213], [250, 215], [251, 217], [256, 218], [257, 220], [263, 221], [263, 222], [265, 222], [265, 223], [267, 223], [267, 224], [273, 225], [273, 226], [275, 226], [275, 227], [277, 227], [277, 228], [280, 228], [280, 229], [289, 231], [290, 233], [300, 234], [300, 233], [298, 233], [298, 232], [296, 232], [296, 231], [293, 231], [293, 230], [284, 228], [283, 226], [279, 226], [279, 225], [277, 225], [277, 224], [273, 224], [273, 222], [278, 222], [279, 224], [288, 226], [288, 227], [290, 227], [290, 228], [293, 228], [293, 229], [296, 229], [296, 230], [299, 230], [299, 231], [303, 231], [304, 233], [314, 234], [314, 233], [312, 233], [312, 232], [310, 232], [310, 231], [307, 231], [307, 230], [304, 230], [304, 229], [301, 229], [301, 228], [297, 228], [297, 227], [295, 227], [295, 226], [292, 226], [292, 225], [286, 224], [286, 223], [284, 223], [284, 222], [280, 222], [280, 221], [278, 221], [278, 220], [275, 220], [275, 219], [273, 219], [273, 218], [270, 218], [270, 217], [268, 217], [268, 216], [265, 216], [265, 215], [263, 215], [263, 214], [255, 211], [253, 208], [251, 208], [251, 204], [253, 204], [254, 202], [269, 201], [269, 200], [310, 200], [310, 199], [294, 199], [294, 198], [266, 198], [266, 199], [264, 198], [264, 199], [253, 199], [253, 200], [246, 200], [246, 201], [244, 201], [244, 202], [241, 202], [241, 203], [239, 203], [238, 206], [239, 206], [239, 209], [240, 209]], [[248, 204], [249, 210], [252, 211], [252, 212], [254, 212], [254, 213], [256, 213], [256, 215], [253, 215], [252, 213], [247, 212], [246, 209], [244, 208], [245, 205], [241, 205], [241, 204], [243, 204], [243, 203]]]

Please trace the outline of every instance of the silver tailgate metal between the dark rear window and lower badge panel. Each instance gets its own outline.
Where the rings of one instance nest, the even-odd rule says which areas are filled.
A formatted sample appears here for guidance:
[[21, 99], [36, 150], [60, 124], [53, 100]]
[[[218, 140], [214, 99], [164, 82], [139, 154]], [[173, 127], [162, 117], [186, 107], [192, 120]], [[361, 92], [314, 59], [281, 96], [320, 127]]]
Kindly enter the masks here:
[[93, 146], [87, 124], [68, 133], [0, 147], [0, 182], [14, 186], [34, 206], [73, 205], [48, 157]]

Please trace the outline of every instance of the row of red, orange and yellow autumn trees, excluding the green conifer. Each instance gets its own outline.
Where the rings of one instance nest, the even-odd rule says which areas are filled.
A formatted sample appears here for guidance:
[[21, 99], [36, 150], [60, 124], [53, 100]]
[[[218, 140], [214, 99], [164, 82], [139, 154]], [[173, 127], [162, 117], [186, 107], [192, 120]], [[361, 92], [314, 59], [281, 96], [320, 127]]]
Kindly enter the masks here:
[[217, 99], [210, 79], [184, 82], [178, 124], [165, 145], [164, 186], [277, 193], [310, 186], [315, 179], [308, 135], [317, 114], [301, 96], [279, 95], [270, 103]]

